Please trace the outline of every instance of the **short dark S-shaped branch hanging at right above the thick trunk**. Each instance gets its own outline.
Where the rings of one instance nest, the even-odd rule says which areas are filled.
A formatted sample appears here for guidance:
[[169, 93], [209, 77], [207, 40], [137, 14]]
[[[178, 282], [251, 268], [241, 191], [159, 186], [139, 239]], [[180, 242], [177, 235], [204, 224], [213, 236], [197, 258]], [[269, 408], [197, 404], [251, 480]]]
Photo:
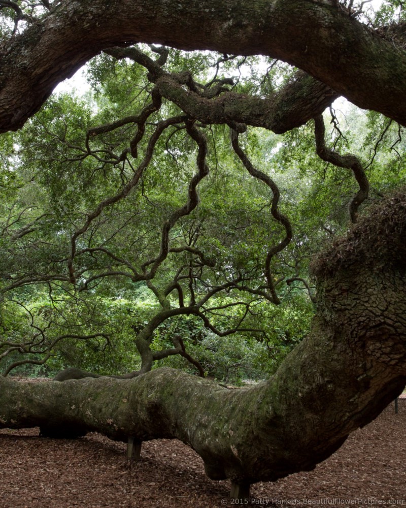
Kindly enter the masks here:
[[369, 182], [366, 177], [364, 168], [362, 167], [359, 158], [355, 155], [340, 155], [339, 153], [333, 152], [326, 146], [324, 139], [324, 120], [322, 115], [315, 117], [314, 126], [317, 155], [323, 161], [334, 164], [339, 168], [351, 169], [355, 179], [358, 182], [359, 190], [351, 200], [349, 207], [351, 222], [355, 224], [358, 216], [358, 207], [365, 201], [369, 193]]

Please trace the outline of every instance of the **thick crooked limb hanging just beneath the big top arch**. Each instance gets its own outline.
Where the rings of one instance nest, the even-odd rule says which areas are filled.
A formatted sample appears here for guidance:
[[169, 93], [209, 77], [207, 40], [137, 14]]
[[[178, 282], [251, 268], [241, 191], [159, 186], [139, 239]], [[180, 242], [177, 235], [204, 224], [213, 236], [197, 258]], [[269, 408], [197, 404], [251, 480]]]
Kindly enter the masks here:
[[231, 84], [231, 81], [227, 79], [210, 88], [195, 82], [189, 72], [166, 72], [135, 46], [109, 48], [104, 52], [117, 59], [129, 58], [145, 67], [148, 79], [155, 83], [155, 90], [160, 96], [204, 123], [246, 123], [283, 134], [306, 123], [317, 112], [322, 113], [339, 97], [329, 86], [301, 71], [277, 94], [263, 99], [228, 91], [224, 85]]

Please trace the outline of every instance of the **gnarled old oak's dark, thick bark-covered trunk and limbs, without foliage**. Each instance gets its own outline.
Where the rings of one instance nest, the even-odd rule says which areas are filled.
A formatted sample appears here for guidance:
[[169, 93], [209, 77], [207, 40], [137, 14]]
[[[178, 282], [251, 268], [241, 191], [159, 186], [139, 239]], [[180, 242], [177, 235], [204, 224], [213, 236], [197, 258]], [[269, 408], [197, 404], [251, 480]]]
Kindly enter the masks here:
[[[343, 95], [406, 125], [404, 24], [366, 26], [356, 19], [352, 1], [347, 6], [335, 0], [41, 4], [22, 9], [0, 2], [17, 27], [0, 48], [2, 132], [19, 129], [59, 81], [107, 50], [144, 66], [153, 85], [152, 105], [131, 120], [139, 125], [135, 141], [118, 159], [136, 158], [139, 133], [163, 98], [186, 114], [196, 139], [196, 121], [228, 124], [234, 152], [260, 179], [266, 177], [240, 148], [238, 133], [247, 124], [282, 133], [315, 119], [318, 155], [351, 169], [358, 182], [350, 206], [355, 223], [368, 181], [356, 157], [326, 147], [321, 113]], [[26, 26], [18, 33], [21, 23]], [[302, 72], [272, 97], [249, 97], [224, 88], [212, 93], [188, 73], [166, 72], [162, 62], [131, 46], [137, 42], [263, 54]], [[118, 124], [101, 126], [92, 134]], [[199, 164], [204, 164], [204, 155]], [[274, 194], [272, 214], [286, 229], [286, 242], [269, 249], [264, 268], [269, 300], [278, 303], [270, 262], [291, 233], [278, 211], [279, 190], [269, 178], [267, 184]], [[317, 313], [311, 333], [266, 383], [231, 390], [166, 368], [125, 380], [88, 377], [26, 385], [2, 378], [0, 425], [39, 425], [47, 435], [97, 430], [122, 440], [179, 438], [202, 457], [210, 478], [229, 478], [242, 488], [234, 495], [243, 495], [244, 489], [247, 494], [250, 483], [312, 469], [351, 431], [375, 418], [406, 383], [405, 214], [405, 193], [399, 192], [318, 257], [313, 265]], [[74, 253], [69, 265], [73, 281]]]

